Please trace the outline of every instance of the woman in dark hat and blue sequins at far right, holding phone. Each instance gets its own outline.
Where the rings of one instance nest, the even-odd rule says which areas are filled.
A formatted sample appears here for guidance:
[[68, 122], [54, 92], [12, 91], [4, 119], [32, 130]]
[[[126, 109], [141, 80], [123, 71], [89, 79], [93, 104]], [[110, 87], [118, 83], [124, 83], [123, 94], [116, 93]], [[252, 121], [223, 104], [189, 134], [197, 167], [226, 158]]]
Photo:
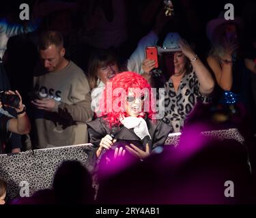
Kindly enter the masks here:
[[214, 73], [216, 103], [248, 106], [249, 77], [242, 59], [242, 21], [225, 20], [220, 16], [210, 20], [206, 27], [212, 47], [207, 62]]

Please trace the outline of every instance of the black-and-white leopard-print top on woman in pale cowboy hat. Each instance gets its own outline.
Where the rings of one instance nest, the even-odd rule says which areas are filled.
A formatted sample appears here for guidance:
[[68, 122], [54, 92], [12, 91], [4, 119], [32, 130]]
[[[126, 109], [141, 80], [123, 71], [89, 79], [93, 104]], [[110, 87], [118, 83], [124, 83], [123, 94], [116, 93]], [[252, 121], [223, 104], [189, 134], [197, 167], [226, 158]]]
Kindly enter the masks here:
[[173, 127], [173, 132], [179, 132], [184, 126], [186, 116], [190, 114], [197, 102], [210, 102], [209, 97], [199, 91], [199, 81], [195, 72], [185, 74], [175, 93], [171, 78], [165, 83], [165, 117], [163, 121]]

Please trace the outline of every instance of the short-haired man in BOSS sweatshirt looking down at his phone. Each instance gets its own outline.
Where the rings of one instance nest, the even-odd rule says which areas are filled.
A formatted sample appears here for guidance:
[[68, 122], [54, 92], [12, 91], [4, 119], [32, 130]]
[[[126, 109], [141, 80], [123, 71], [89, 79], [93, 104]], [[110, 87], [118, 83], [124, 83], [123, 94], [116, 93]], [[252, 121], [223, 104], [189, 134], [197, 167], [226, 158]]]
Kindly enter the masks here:
[[35, 110], [35, 149], [87, 143], [87, 126], [93, 116], [89, 83], [81, 68], [64, 57], [63, 37], [47, 31], [40, 37], [40, 58], [46, 74], [35, 76], [39, 96]]

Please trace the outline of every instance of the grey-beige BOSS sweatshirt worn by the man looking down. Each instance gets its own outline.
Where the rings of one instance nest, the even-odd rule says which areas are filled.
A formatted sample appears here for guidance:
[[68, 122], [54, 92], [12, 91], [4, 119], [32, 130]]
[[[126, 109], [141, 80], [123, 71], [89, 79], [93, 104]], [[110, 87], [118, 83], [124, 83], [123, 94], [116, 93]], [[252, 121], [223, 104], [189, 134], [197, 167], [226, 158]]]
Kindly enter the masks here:
[[93, 116], [89, 83], [72, 61], [59, 71], [34, 77], [42, 97], [55, 99], [53, 112], [35, 110], [35, 149], [88, 142], [87, 125]]

